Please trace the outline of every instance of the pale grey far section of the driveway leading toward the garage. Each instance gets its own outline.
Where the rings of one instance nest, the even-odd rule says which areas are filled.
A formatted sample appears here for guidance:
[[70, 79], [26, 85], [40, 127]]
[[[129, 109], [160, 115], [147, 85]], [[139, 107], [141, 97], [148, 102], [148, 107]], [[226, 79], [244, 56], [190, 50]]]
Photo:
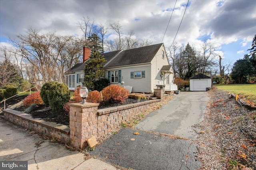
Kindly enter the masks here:
[[166, 105], [147, 115], [135, 128], [195, 139], [197, 134], [192, 126], [202, 121], [209, 100], [206, 91], [180, 92]]

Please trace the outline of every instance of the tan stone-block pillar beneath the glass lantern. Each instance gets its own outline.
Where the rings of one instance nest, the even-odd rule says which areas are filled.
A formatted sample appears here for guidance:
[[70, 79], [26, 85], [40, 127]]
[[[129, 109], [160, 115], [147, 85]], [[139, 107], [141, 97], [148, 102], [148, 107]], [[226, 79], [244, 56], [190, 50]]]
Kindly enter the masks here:
[[97, 110], [98, 103], [70, 103], [69, 127], [70, 142], [76, 148], [83, 148], [86, 140], [97, 138]]

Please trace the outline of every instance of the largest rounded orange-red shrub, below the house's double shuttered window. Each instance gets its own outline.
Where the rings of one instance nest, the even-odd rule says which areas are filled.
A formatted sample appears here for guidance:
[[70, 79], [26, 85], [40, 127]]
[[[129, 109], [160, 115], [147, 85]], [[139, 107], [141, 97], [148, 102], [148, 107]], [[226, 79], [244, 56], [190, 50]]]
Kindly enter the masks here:
[[128, 90], [118, 85], [110, 85], [102, 90], [103, 101], [108, 103], [122, 103], [128, 95]]

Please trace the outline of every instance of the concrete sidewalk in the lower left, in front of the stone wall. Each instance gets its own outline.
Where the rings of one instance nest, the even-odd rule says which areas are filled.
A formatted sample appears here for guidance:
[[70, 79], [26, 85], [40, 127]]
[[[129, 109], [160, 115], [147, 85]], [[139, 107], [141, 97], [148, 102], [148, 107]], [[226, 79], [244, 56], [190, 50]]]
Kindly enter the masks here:
[[4, 120], [0, 120], [0, 160], [28, 161], [28, 170], [116, 170]]

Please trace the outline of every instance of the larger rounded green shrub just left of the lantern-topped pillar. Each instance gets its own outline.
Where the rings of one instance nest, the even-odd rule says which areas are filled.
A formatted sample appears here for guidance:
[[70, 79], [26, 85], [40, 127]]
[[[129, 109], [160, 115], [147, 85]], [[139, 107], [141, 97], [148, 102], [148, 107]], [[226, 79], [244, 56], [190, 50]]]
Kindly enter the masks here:
[[68, 86], [63, 83], [53, 83], [47, 94], [47, 99], [53, 111], [61, 111], [70, 99]]

